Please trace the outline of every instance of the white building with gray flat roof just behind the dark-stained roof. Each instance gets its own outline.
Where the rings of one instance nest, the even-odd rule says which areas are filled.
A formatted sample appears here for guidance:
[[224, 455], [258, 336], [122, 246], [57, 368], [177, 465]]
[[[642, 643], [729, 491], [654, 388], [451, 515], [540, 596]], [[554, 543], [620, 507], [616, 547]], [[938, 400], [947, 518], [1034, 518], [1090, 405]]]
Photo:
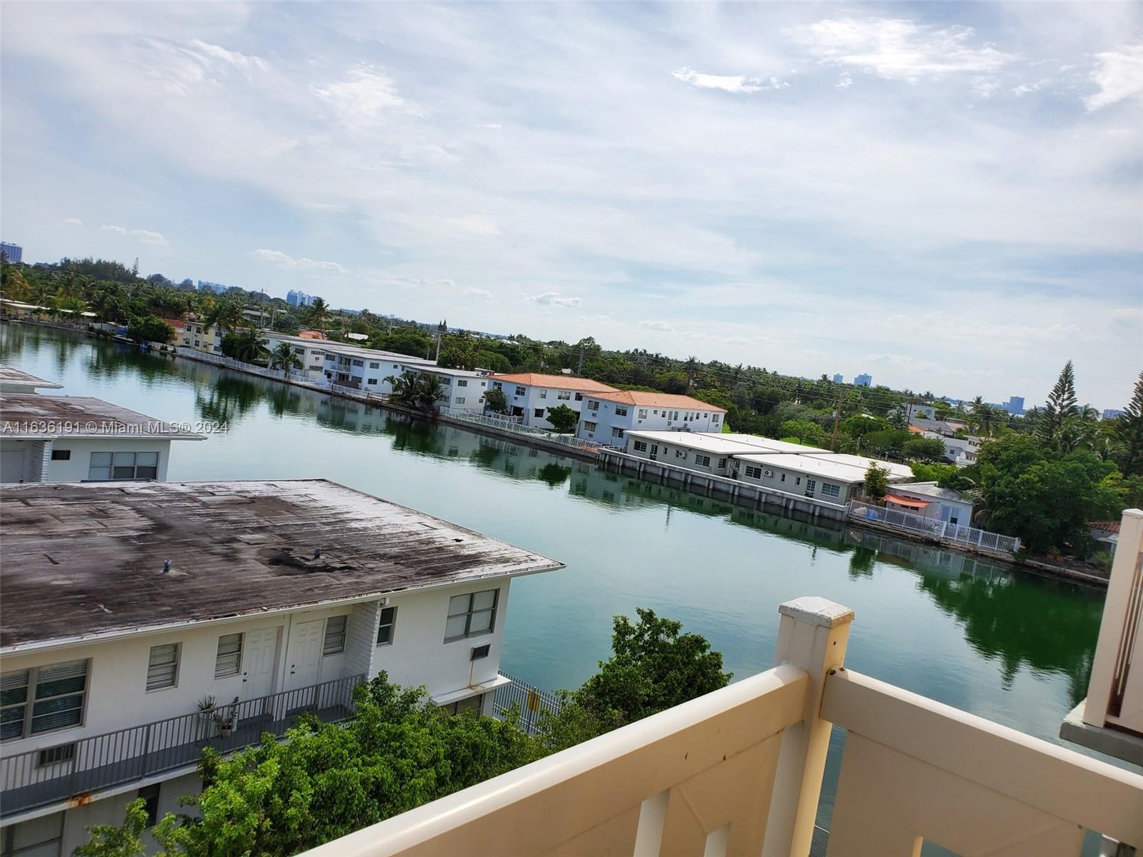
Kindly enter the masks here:
[[171, 441], [203, 440], [89, 397], [5, 393], [0, 410], [0, 482], [6, 483], [162, 481]]

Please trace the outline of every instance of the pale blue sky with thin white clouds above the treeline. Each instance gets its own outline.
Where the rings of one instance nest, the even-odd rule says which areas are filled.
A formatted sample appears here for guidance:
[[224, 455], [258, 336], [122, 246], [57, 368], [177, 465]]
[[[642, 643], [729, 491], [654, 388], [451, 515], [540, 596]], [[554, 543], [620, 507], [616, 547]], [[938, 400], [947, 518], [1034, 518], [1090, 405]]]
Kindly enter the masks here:
[[1143, 367], [1143, 6], [6, 2], [25, 261], [1041, 400]]

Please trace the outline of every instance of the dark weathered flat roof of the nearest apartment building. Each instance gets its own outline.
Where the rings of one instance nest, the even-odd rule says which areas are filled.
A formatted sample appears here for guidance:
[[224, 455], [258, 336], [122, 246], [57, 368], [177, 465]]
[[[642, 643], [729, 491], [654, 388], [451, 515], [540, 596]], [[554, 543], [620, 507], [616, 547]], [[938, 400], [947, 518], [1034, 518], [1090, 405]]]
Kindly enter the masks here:
[[0, 520], [0, 651], [562, 567], [323, 479], [13, 484]]

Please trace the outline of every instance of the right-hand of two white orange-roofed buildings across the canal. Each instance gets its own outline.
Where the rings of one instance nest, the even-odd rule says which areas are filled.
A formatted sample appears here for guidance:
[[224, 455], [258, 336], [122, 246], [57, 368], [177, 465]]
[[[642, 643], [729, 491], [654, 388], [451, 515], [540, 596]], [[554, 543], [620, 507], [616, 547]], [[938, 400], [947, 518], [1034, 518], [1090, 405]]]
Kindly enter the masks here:
[[629, 431], [722, 431], [726, 409], [672, 393], [616, 390], [584, 398], [576, 436], [608, 447], [623, 447]]

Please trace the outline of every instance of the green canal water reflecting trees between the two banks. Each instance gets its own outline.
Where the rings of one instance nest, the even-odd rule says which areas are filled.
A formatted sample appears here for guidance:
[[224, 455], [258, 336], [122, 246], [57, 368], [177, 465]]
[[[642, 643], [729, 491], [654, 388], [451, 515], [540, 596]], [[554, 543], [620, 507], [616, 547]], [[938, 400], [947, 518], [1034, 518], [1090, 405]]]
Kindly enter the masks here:
[[822, 595], [856, 611], [848, 666], [958, 708], [1058, 742], [1086, 692], [1098, 590], [79, 334], [6, 323], [0, 361], [62, 383], [53, 393], [229, 425], [174, 443], [169, 480], [322, 476], [567, 563], [512, 584], [502, 668], [543, 688], [588, 678], [612, 616], [637, 607], [749, 675], [770, 666], [778, 603]]

